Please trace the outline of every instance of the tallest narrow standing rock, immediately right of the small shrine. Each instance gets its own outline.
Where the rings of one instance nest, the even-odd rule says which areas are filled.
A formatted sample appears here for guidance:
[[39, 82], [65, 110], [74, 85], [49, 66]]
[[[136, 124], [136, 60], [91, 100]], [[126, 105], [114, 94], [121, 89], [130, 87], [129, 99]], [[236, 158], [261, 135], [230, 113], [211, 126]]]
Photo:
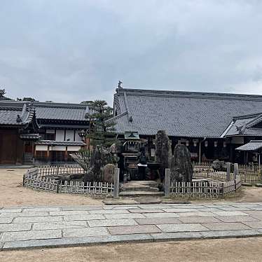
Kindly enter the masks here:
[[160, 179], [165, 177], [165, 169], [170, 167], [172, 158], [171, 142], [164, 130], [159, 130], [156, 134], [156, 154], [155, 161], [160, 163]]

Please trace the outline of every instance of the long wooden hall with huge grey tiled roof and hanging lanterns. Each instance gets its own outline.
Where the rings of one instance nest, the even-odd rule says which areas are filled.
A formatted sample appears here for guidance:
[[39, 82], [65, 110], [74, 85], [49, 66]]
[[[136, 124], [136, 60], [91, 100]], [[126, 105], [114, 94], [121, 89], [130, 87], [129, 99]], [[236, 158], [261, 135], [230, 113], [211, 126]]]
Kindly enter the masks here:
[[126, 131], [147, 139], [154, 156], [154, 139], [165, 130], [176, 144], [185, 144], [194, 161], [216, 158], [248, 163], [237, 147], [262, 139], [262, 96], [117, 88], [113, 99], [118, 137]]

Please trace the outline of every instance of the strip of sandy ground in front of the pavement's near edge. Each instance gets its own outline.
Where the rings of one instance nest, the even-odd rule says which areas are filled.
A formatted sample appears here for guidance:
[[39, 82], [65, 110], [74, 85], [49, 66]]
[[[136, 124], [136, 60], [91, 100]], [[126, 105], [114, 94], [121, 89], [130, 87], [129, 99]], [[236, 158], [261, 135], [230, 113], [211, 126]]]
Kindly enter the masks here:
[[262, 237], [1, 251], [1, 262], [261, 261]]

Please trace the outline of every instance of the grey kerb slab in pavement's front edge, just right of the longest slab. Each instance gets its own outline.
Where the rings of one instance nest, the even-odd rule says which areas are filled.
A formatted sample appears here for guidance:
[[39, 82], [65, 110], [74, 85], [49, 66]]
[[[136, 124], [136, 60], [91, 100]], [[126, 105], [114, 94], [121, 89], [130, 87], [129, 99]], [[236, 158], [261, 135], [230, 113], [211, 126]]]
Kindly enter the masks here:
[[180, 233], [158, 233], [151, 234], [154, 240], [191, 240], [202, 238], [201, 233], [198, 232], [180, 232]]

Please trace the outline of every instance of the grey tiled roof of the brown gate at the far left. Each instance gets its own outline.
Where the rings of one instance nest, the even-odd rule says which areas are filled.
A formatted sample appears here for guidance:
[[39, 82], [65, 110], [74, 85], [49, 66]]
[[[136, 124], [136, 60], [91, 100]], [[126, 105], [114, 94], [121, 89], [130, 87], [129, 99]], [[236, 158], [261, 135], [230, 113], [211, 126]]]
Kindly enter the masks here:
[[34, 106], [26, 102], [0, 102], [0, 125], [26, 125], [34, 117]]

